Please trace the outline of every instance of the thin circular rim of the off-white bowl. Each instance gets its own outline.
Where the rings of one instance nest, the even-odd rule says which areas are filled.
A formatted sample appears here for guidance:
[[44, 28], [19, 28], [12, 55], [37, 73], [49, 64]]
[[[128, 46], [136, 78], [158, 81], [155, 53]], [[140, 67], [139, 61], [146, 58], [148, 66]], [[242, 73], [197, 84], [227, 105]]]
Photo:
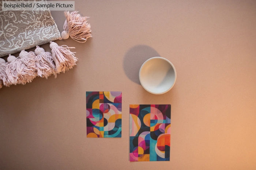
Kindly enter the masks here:
[[[166, 62], [168, 62], [168, 63], [172, 66], [172, 68], [173, 68], [173, 70], [174, 70], [174, 82], [173, 82], [172, 86], [170, 86], [170, 88], [167, 89], [166, 91], [159, 92], [159, 93], [158, 93], [158, 92], [153, 92], [153, 91], [148, 90], [148, 89], [144, 86], [144, 84], [142, 83], [142, 80], [141, 80], [141, 78], [140, 78], [142, 68], [143, 68], [143, 66], [144, 66], [148, 61], [153, 60], [153, 59], [162, 59], [162, 60], [165, 60]], [[139, 80], [140, 80], [140, 84], [142, 85], [142, 87], [143, 87], [146, 91], [148, 91], [148, 92], [150, 92], [150, 93], [152, 93], [152, 94], [164, 94], [164, 93], [168, 92], [169, 90], [171, 90], [171, 89], [173, 88], [174, 84], [176, 83], [176, 79], [177, 79], [177, 72], [176, 72], [176, 69], [175, 69], [173, 63], [170, 62], [170, 61], [169, 61], [168, 59], [166, 59], [166, 58], [163, 58], [163, 57], [152, 57], [152, 58], [150, 58], [150, 59], [147, 59], [147, 60], [142, 64], [142, 66], [140, 67], [140, 71], [139, 71]]]

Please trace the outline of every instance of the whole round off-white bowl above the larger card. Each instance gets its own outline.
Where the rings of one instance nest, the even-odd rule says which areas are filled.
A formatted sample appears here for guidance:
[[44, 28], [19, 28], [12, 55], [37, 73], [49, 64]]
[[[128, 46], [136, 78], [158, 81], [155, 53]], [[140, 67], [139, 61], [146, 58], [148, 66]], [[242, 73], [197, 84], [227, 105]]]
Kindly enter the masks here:
[[139, 79], [148, 92], [163, 94], [169, 91], [176, 82], [176, 70], [169, 60], [154, 57], [142, 64]]

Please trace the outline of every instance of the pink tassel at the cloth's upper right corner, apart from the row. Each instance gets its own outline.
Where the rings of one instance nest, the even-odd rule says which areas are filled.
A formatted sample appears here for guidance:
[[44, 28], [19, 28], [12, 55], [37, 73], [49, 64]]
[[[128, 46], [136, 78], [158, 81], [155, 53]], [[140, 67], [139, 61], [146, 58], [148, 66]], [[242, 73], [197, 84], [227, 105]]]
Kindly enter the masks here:
[[91, 25], [87, 23], [87, 18], [82, 17], [78, 11], [65, 11], [64, 15], [66, 17], [65, 23], [63, 25], [64, 31], [61, 32], [61, 37], [63, 39], [68, 39], [70, 36], [75, 41], [79, 43], [85, 43], [86, 40], [91, 36]]

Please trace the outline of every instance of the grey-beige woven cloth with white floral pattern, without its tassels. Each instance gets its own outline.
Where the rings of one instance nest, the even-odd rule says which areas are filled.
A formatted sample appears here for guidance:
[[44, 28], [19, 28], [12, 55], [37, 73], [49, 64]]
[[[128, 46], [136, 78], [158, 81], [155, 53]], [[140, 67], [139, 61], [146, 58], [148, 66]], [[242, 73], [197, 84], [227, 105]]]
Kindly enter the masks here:
[[[0, 8], [2, 9], [2, 1]], [[60, 37], [49, 10], [34, 8], [33, 11], [0, 11], [0, 57], [49, 43]]]

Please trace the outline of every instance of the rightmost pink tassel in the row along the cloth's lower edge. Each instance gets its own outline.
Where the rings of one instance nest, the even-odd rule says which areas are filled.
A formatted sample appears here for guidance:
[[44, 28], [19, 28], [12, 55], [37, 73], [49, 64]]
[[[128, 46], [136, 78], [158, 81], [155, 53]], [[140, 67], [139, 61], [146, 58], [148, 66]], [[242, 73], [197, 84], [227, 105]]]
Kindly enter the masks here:
[[57, 73], [65, 72], [76, 65], [78, 58], [75, 57], [74, 52], [69, 50], [69, 48], [75, 47], [58, 46], [57, 43], [50, 41], [50, 48]]

